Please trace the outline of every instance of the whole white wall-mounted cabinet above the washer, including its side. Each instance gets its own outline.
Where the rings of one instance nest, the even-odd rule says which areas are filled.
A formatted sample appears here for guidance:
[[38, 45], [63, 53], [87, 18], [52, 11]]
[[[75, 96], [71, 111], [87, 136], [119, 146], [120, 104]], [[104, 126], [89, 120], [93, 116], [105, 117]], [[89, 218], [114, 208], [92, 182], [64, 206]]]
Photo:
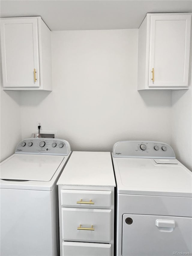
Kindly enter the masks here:
[[51, 32], [41, 17], [1, 18], [4, 90], [52, 90]]

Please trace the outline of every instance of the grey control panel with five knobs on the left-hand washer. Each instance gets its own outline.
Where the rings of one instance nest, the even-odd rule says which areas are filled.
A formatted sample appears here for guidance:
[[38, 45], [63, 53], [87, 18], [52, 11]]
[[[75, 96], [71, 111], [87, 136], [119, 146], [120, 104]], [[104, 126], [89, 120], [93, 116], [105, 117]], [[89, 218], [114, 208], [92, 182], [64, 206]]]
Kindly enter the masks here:
[[16, 147], [16, 154], [69, 155], [71, 149], [67, 140], [31, 138], [22, 140]]

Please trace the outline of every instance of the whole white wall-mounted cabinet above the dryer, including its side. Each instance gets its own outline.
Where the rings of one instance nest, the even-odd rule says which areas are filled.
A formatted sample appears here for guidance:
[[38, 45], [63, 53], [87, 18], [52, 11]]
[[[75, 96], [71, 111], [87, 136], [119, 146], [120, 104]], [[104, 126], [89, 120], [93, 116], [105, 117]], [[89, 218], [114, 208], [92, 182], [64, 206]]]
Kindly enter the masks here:
[[139, 28], [138, 90], [187, 89], [191, 14], [147, 14]]

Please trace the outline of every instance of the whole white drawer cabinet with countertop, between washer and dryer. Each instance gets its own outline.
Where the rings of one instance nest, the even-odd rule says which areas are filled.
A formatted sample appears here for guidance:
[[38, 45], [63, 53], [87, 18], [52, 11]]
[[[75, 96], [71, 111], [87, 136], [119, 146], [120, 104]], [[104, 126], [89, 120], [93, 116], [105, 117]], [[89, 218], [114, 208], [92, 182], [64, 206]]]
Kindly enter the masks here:
[[110, 152], [73, 151], [57, 185], [60, 256], [113, 256], [116, 183]]

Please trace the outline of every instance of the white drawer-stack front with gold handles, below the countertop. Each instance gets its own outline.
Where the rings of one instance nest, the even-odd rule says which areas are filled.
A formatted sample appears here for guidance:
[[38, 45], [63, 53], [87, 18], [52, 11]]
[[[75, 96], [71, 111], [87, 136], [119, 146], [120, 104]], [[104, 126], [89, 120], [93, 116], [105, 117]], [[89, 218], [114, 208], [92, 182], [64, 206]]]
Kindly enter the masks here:
[[113, 255], [114, 187], [59, 185], [58, 197], [60, 255]]

